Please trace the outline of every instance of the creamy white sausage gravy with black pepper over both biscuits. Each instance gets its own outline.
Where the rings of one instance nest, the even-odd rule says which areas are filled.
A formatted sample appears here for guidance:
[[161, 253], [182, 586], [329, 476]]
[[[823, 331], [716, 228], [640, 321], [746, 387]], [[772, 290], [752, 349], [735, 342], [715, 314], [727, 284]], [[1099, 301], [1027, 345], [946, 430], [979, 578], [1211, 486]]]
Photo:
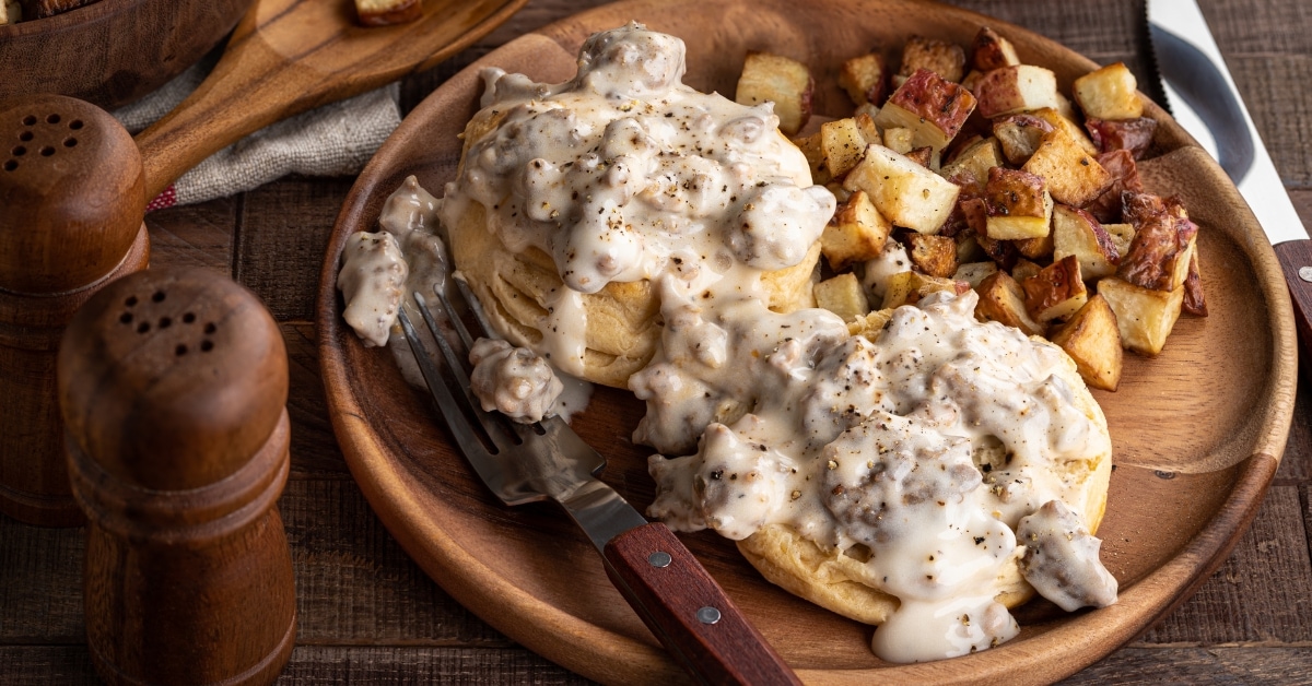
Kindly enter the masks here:
[[[974, 293], [897, 308], [869, 338], [828, 311], [770, 311], [761, 274], [799, 264], [836, 201], [770, 104], [699, 93], [684, 70], [682, 41], [638, 24], [589, 38], [563, 84], [488, 70], [483, 106], [500, 123], [466, 142], [442, 201], [403, 195], [426, 207], [425, 226], [480, 203], [509, 249], [552, 257], [567, 287], [535, 352], [565, 373], [583, 363], [577, 295], [649, 279], [661, 345], [628, 382], [647, 404], [634, 438], [660, 453], [648, 514], [735, 540], [785, 526], [865, 559], [859, 581], [899, 601], [874, 634], [879, 657], [1014, 637], [996, 601], [1008, 565], [1063, 607], [1114, 602], [1082, 522], [1102, 497], [1084, 488], [1086, 462], [1110, 459], [1110, 439], [1065, 380], [1078, 380], [1061, 373], [1065, 353], [979, 323]], [[392, 266], [411, 257], [404, 236], [357, 236], [338, 285], [348, 321], [379, 342], [415, 265]]]

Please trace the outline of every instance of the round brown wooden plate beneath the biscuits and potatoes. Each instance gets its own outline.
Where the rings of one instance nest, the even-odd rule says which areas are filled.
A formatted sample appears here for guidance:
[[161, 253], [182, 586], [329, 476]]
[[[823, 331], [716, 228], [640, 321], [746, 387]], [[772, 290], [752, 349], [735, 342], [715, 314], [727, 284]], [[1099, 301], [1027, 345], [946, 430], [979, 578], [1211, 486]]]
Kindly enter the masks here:
[[[401, 379], [391, 353], [366, 349], [341, 320], [335, 289], [346, 236], [377, 231], [387, 195], [408, 174], [441, 193], [457, 135], [478, 108], [478, 71], [496, 66], [538, 80], [573, 75], [592, 31], [639, 20], [687, 45], [686, 81], [732, 93], [748, 50], [800, 59], [815, 73], [816, 113], [851, 104], [840, 63], [911, 34], [968, 46], [980, 25], [1010, 38], [1022, 62], [1056, 71], [1063, 89], [1096, 66], [1019, 28], [909, 0], [638, 0], [602, 7], [525, 35], [472, 64], [425, 100], [359, 176], [337, 219], [318, 306], [320, 354], [333, 426], [365, 496], [388, 530], [449, 593], [514, 640], [611, 683], [682, 679], [610, 586], [596, 551], [550, 505], [504, 508], [463, 459], [424, 392]], [[1094, 662], [1182, 602], [1229, 554], [1275, 472], [1294, 408], [1295, 336], [1288, 295], [1257, 222], [1216, 167], [1156, 106], [1149, 190], [1179, 195], [1200, 224], [1211, 316], [1183, 317], [1155, 359], [1127, 355], [1120, 390], [1097, 393], [1115, 449], [1102, 557], [1120, 581], [1117, 605], [1065, 614], [1044, 601], [1018, 609], [1021, 636], [941, 662], [891, 665], [870, 652], [872, 628], [820, 610], [764, 581], [732, 542], [684, 535], [689, 548], [802, 678], [816, 683], [1050, 682]], [[638, 508], [653, 487], [648, 449], [630, 433], [642, 405], [598, 388], [575, 420], [610, 458], [604, 479]]]

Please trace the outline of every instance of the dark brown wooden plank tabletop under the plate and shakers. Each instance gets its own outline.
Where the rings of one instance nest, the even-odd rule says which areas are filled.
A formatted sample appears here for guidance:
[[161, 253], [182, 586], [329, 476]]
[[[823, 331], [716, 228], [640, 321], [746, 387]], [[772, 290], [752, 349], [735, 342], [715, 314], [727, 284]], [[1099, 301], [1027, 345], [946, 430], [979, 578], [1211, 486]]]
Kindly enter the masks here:
[[[493, 47], [598, 3], [533, 0], [453, 62], [408, 79], [408, 110]], [[1141, 0], [956, 4], [1030, 28], [1147, 83]], [[1312, 226], [1312, 4], [1203, 0], [1305, 224]], [[1147, 91], [1148, 88], [1145, 88]], [[282, 324], [291, 362], [291, 479], [279, 506], [300, 627], [283, 682], [581, 683], [464, 610], [382, 527], [328, 424], [315, 349], [323, 252], [350, 178], [286, 178], [147, 218], [156, 265], [205, 265], [251, 287]], [[1212, 392], [1225, 392], [1215, 388]], [[1186, 403], [1187, 399], [1178, 399]], [[81, 609], [83, 531], [0, 517], [0, 682], [96, 682]], [[1299, 390], [1288, 447], [1233, 555], [1139, 640], [1072, 683], [1312, 683], [1312, 391]]]

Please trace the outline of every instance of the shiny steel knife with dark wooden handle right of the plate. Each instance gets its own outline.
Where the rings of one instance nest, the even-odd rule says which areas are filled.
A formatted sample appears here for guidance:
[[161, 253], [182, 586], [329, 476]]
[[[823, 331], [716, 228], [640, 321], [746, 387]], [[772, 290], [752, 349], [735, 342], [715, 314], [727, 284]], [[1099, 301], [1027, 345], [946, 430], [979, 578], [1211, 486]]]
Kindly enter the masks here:
[[1304, 346], [1312, 345], [1312, 241], [1195, 0], [1147, 0], [1166, 108], [1220, 163], [1275, 249]]

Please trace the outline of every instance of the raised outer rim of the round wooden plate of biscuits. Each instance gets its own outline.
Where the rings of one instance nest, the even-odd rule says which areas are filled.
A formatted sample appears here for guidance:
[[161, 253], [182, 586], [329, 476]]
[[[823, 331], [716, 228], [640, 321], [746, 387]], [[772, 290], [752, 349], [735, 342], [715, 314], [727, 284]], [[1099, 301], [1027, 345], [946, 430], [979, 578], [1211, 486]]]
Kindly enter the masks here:
[[[785, 4], [787, 3], [779, 0], [770, 3], [770, 5]], [[827, 1], [821, 4], [837, 3]], [[1006, 35], [1023, 34], [1026, 39], [1063, 54], [1065, 59], [1073, 60], [1081, 68], [1093, 70], [1098, 67], [1078, 52], [1068, 50], [1040, 34], [968, 9], [933, 3], [908, 3], [907, 0], [863, 0], [858, 4], [895, 7], [914, 4], [920, 8], [937, 8], [955, 14], [962, 20], [988, 22], [994, 28], [1005, 30]], [[565, 50], [562, 43], [564, 37], [588, 26], [597, 26], [602, 17], [610, 17], [615, 12], [647, 5], [649, 3], [644, 0], [601, 5], [521, 35], [478, 59], [443, 83], [415, 111], [422, 111], [425, 106], [434, 101], [438, 93], [455, 88], [453, 84], [458, 85], [462, 80], [476, 79], [478, 70], [493, 66], [499, 58], [512, 50], [525, 49], [535, 41], [546, 41], [546, 43], [541, 43], [544, 49]], [[606, 22], [606, 25], [610, 24]], [[1164, 139], [1168, 144], [1165, 153], [1173, 153], [1185, 147], [1197, 148], [1197, 143], [1161, 108], [1147, 97], [1145, 101], [1148, 114], [1165, 125]], [[407, 121], [412, 126], [419, 126], [411, 117], [407, 117]], [[403, 122], [401, 127], [407, 127], [407, 122]], [[398, 131], [401, 131], [401, 129]], [[394, 134], [395, 136], [396, 134]], [[390, 138], [388, 143], [394, 138]], [[387, 150], [387, 144], [384, 144], [383, 150]], [[375, 165], [375, 161], [380, 157], [380, 155], [375, 156], [370, 161], [342, 205], [325, 254], [316, 306], [320, 365], [324, 384], [329, 391], [327, 393], [329, 414], [352, 475], [365, 492], [370, 506], [378, 513], [388, 531], [398, 538], [407, 554], [416, 559], [420, 567], [457, 601], [499, 631], [539, 655], [598, 681], [631, 681], [631, 669], [617, 670], [614, 665], [581, 658], [577, 655], [580, 647], [585, 647], [593, 655], [598, 652], [605, 653], [605, 656], [609, 656], [607, 662], [621, 660], [630, 668], [644, 670], [651, 677], [647, 681], [668, 681], [670, 677], [681, 678], [682, 672], [657, 647], [592, 624], [522, 592], [518, 586], [496, 575], [482, 560], [470, 555], [458, 542], [447, 536], [440, 526], [436, 526], [434, 522], [412, 517], [409, 513], [413, 513], [415, 501], [412, 493], [405, 491], [408, 480], [404, 474], [405, 470], [384, 459], [379, 447], [382, 443], [379, 442], [377, 428], [365, 421], [357, 397], [354, 395], [348, 396], [346, 393], [332, 392], [333, 386], [346, 391], [352, 387], [349, 369], [345, 367], [344, 355], [337, 345], [342, 340], [352, 341], [345, 345], [359, 345], [358, 341], [354, 341], [349, 336], [349, 331], [340, 321], [340, 303], [335, 287], [338, 254], [345, 239], [344, 227], [361, 224], [358, 214], [363, 211], [365, 202], [370, 192], [374, 190], [374, 186], [384, 180], [386, 173], [378, 168], [380, 164]], [[1224, 178], [1223, 172], [1220, 172], [1220, 168], [1215, 163], [1212, 167], [1215, 169], [1206, 168], [1204, 173], [1210, 176], [1220, 174]], [[1233, 185], [1229, 184], [1228, 178], [1224, 178], [1224, 188], [1233, 190]], [[1237, 197], [1237, 190], [1235, 194]], [[1229, 556], [1239, 538], [1248, 529], [1253, 517], [1256, 517], [1266, 487], [1274, 477], [1281, 455], [1283, 454], [1284, 438], [1288, 434], [1288, 426], [1292, 420], [1294, 384], [1296, 383], [1298, 374], [1296, 359], [1294, 357], [1294, 341], [1296, 338], [1294, 337], [1294, 321], [1290, 313], [1288, 294], [1284, 290], [1282, 272], [1279, 270], [1274, 252], [1266, 243], [1265, 233], [1262, 233], [1252, 212], [1248, 211], [1246, 205], [1241, 207], [1245, 215], [1242, 216], [1245, 220], [1242, 222], [1241, 233], [1248, 237], [1253, 248], [1253, 252], [1245, 253], [1245, 260], [1252, 264], [1261, 281], [1262, 294], [1271, 306], [1269, 323], [1273, 329], [1273, 346], [1275, 350], [1270, 378], [1274, 383], [1270, 386], [1277, 404], [1282, 407], [1257, 432], [1257, 435], [1253, 438], [1254, 450], [1250, 456], [1231, 467], [1237, 475], [1236, 484], [1221, 506], [1212, 513], [1208, 522], [1199, 530], [1199, 534], [1173, 557], [1168, 559], [1165, 564], [1157, 567], [1126, 589], [1122, 593], [1124, 602], [1097, 614], [1082, 613], [1072, 615], [1061, 623], [1060, 628], [1030, 636], [1022, 644], [1008, 644], [1034, 648], [1012, 651], [1012, 655], [1008, 656], [1019, 657], [1021, 660], [1001, 664], [1000, 660], [993, 658], [1002, 655], [1002, 651], [1006, 649], [1006, 647], [1002, 647], [941, 662], [893, 665], [875, 669], [803, 669], [799, 670], [799, 676], [808, 682], [846, 682], [866, 681], [870, 677], [888, 677], [900, 672], [907, 677], [911, 677], [912, 673], [921, 677], [933, 674], [933, 678], [938, 682], [958, 682], [1004, 677], [1014, 679], [1018, 672], [1023, 670], [1019, 676], [1025, 681], [1051, 681], [1073, 674], [1110, 655], [1185, 602], [1206, 582], [1212, 572]], [[1277, 285], [1279, 286], [1278, 289]], [[1216, 529], [1216, 525], [1219, 525], [1220, 530]], [[474, 575], [471, 569], [482, 573]], [[472, 582], [471, 577], [474, 576], [479, 577], [478, 584]], [[487, 585], [489, 577], [500, 584]], [[1162, 585], [1172, 586], [1176, 590], [1173, 593], [1161, 593], [1160, 589]], [[1144, 601], [1149, 595], [1155, 599], [1152, 602]], [[1131, 605], [1136, 609], [1147, 607], [1148, 611], [1131, 613], [1126, 610]], [[506, 609], [510, 611], [506, 613]], [[523, 613], [530, 610], [534, 616], [547, 616], [550, 626], [531, 627], [522, 622], [516, 622], [516, 619], [523, 616]], [[1127, 614], [1130, 616], [1124, 616]], [[1063, 640], [1071, 637], [1071, 635], [1078, 635], [1081, 640]], [[604, 647], [606, 651], [602, 651]], [[972, 662], [972, 668], [984, 669], [963, 669], [958, 666], [964, 661]], [[945, 669], [943, 665], [949, 665], [949, 668]], [[962, 676], [963, 672], [968, 672], [968, 674]]]

